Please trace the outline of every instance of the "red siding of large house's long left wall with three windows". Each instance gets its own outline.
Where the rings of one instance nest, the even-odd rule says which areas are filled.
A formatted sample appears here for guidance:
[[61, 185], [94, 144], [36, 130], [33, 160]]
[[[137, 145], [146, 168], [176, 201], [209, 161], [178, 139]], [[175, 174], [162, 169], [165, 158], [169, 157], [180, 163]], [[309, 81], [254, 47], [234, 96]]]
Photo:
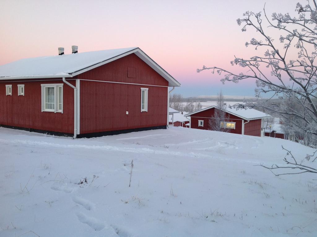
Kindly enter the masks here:
[[[58, 79], [58, 78], [56, 78]], [[47, 80], [47, 79], [45, 79]], [[16, 80], [0, 82], [0, 124], [61, 133], [74, 133], [74, 90], [63, 86], [63, 114], [42, 112], [41, 84], [63, 83], [61, 80]], [[73, 85], [74, 81], [70, 81]], [[12, 95], [5, 85], [12, 84]], [[24, 96], [18, 95], [18, 84], [24, 84]]]

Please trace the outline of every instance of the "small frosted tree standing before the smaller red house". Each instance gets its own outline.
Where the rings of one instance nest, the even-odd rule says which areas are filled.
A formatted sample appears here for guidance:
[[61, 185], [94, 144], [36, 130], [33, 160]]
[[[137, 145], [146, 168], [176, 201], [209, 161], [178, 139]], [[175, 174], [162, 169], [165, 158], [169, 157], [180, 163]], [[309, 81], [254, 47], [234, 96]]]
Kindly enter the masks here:
[[225, 124], [223, 123], [223, 126], [221, 126], [221, 122], [225, 122], [228, 119], [226, 114], [227, 104], [224, 102], [221, 90], [217, 95], [217, 108], [214, 110], [213, 118], [208, 121], [209, 130], [227, 132], [229, 129], [225, 127]]

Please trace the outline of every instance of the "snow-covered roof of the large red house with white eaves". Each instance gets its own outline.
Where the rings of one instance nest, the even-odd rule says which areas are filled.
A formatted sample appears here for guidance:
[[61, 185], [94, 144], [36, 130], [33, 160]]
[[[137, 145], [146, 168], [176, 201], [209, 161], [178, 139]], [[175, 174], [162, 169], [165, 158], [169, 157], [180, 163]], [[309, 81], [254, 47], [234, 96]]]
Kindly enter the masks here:
[[0, 80], [73, 77], [132, 53], [164, 77], [169, 82], [169, 86], [180, 86], [178, 81], [138, 47], [25, 58], [1, 65]]

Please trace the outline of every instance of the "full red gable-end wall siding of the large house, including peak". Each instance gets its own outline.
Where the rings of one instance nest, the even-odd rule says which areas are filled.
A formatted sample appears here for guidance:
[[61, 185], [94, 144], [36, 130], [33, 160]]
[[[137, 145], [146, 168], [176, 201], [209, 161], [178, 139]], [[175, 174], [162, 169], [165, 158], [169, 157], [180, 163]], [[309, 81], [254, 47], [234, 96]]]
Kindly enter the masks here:
[[[168, 82], [135, 54], [89, 70], [77, 78], [81, 79], [81, 134], [166, 125]], [[141, 88], [148, 88], [147, 112], [141, 112]]]

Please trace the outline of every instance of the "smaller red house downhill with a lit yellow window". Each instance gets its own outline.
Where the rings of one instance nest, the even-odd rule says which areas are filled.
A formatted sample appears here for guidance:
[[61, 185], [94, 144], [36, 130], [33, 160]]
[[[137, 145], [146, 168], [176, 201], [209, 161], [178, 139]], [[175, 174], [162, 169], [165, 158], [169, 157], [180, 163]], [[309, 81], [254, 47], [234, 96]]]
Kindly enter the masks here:
[[[215, 110], [217, 106], [210, 106], [185, 115], [190, 118], [190, 128], [210, 130], [209, 121], [216, 120]], [[262, 119], [270, 115], [256, 109], [230, 109], [225, 111], [225, 118], [220, 121], [219, 128], [227, 128], [230, 133], [264, 136]]]

